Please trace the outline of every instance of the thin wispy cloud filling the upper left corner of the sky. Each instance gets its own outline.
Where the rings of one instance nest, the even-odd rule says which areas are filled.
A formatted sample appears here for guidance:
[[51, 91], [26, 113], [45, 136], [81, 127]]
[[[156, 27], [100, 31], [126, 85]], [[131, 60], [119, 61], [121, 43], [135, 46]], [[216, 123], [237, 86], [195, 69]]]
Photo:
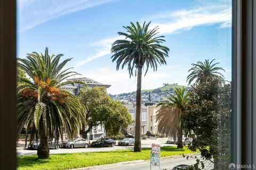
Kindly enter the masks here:
[[18, 0], [19, 31], [25, 31], [54, 18], [113, 0]]

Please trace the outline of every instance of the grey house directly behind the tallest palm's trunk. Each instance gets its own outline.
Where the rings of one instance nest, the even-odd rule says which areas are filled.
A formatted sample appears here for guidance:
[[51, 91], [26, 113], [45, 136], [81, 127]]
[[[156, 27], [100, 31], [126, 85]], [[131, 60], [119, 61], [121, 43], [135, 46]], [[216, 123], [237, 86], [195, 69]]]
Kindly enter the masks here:
[[[134, 120], [134, 123], [128, 125], [127, 132], [131, 134], [135, 134], [135, 119], [136, 119], [136, 104], [123, 104], [125, 106], [129, 113], [132, 116], [132, 120]], [[147, 133], [147, 122], [148, 122], [148, 116], [147, 116], [147, 107], [143, 104], [141, 105], [141, 134]]]

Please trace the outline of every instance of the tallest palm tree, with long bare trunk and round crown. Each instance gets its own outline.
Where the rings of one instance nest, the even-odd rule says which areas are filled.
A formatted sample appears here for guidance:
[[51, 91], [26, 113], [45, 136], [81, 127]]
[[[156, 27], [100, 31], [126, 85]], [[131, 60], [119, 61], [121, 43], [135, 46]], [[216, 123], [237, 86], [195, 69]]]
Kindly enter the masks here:
[[135, 144], [134, 151], [141, 151], [141, 75], [142, 68], [146, 68], [145, 76], [149, 66], [154, 71], [157, 70], [157, 64], [166, 64], [165, 57], [168, 56], [169, 48], [161, 45], [165, 40], [164, 36], [157, 36], [158, 27], [149, 29], [150, 22], [144, 22], [141, 26], [139, 22], [131, 26], [123, 27], [126, 33], [118, 32], [125, 39], [119, 39], [112, 44], [111, 56], [112, 62], [116, 61], [116, 69], [123, 69], [127, 65], [130, 77], [137, 76], [137, 95], [136, 95], [136, 120], [135, 120]]

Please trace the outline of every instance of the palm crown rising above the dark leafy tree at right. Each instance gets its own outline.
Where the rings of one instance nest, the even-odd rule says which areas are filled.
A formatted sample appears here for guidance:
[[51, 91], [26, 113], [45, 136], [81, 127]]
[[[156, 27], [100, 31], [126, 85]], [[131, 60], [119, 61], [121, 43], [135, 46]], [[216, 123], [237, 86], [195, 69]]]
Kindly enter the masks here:
[[191, 64], [193, 67], [188, 70], [188, 72], [192, 71], [187, 77], [188, 85], [190, 85], [193, 80], [195, 80], [195, 84], [209, 82], [212, 79], [223, 80], [224, 76], [219, 70], [225, 70], [221, 67], [215, 67], [219, 62], [212, 63], [214, 60], [211, 62], [209, 62], [209, 60], [205, 60], [204, 62], [198, 61], [196, 64]]

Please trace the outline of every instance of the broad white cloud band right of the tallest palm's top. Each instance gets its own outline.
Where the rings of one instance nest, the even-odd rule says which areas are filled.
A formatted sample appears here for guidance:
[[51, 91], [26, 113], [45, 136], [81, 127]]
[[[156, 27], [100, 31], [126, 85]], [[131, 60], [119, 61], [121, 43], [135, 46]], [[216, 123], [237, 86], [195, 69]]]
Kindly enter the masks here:
[[[161, 34], [175, 34], [196, 26], [214, 25], [216, 23], [220, 23], [221, 28], [231, 27], [231, 7], [203, 6], [193, 10], [156, 14], [151, 18], [149, 17], [149, 19], [153, 20], [151, 28], [159, 26]], [[170, 22], [170, 20], [172, 21]]]

